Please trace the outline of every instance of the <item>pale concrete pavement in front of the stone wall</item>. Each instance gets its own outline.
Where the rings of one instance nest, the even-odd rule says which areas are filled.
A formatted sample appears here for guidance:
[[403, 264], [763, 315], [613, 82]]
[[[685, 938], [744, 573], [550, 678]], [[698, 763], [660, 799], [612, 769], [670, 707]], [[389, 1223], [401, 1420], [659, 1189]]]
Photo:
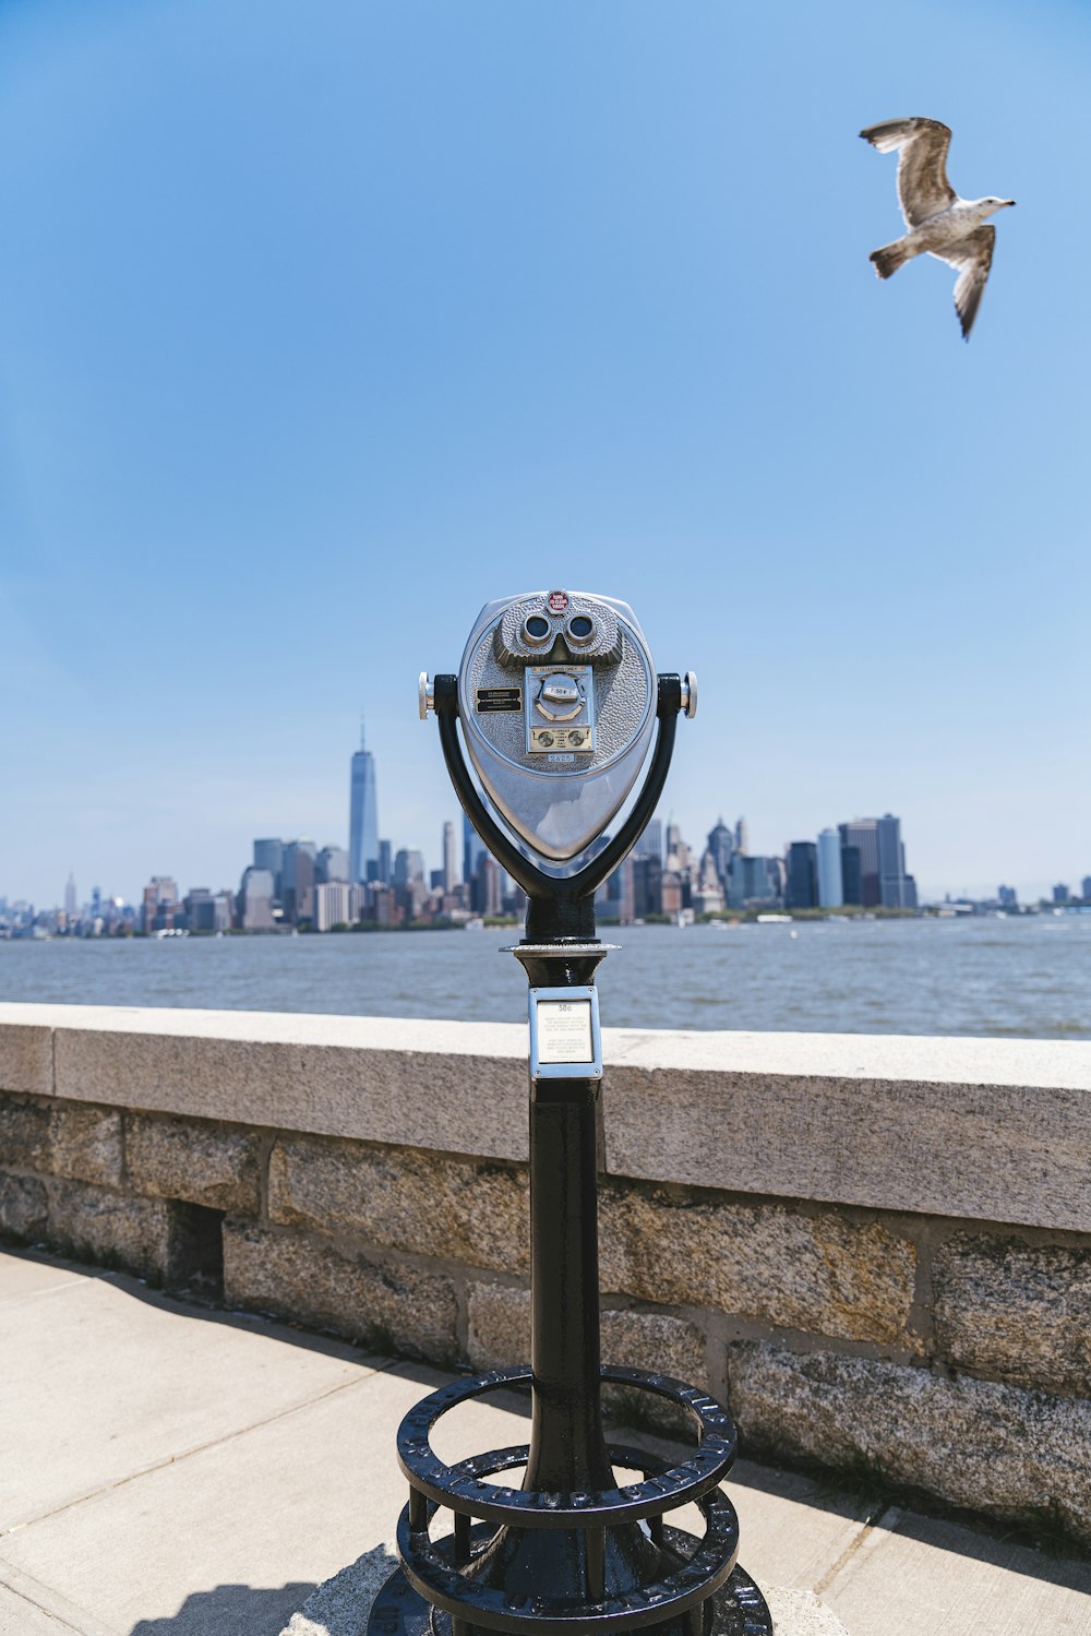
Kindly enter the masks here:
[[[360, 1636], [404, 1503], [394, 1428], [435, 1371], [15, 1253], [0, 1369], [0, 1636]], [[474, 1404], [437, 1441], [523, 1440]], [[1091, 1564], [869, 1520], [748, 1463], [731, 1487], [785, 1636], [833, 1615], [851, 1636], [1091, 1636]]]

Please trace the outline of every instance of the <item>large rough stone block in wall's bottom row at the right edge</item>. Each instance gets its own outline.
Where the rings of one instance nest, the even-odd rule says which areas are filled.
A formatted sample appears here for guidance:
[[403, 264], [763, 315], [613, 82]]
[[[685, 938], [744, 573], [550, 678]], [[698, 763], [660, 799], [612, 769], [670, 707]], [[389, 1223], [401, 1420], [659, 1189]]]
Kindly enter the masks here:
[[728, 1346], [746, 1451], [818, 1459], [1091, 1543], [1091, 1402], [769, 1342]]

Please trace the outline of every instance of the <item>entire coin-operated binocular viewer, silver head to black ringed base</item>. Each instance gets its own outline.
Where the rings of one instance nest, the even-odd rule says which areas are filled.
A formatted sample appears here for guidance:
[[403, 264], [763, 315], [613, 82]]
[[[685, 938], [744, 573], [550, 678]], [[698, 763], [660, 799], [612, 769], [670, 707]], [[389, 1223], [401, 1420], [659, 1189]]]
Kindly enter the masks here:
[[[761, 1590], [736, 1566], [738, 1521], [720, 1487], [731, 1417], [682, 1381], [604, 1368], [599, 1348], [594, 973], [608, 946], [595, 937], [594, 892], [656, 808], [697, 681], [656, 674], [625, 602], [537, 591], [489, 602], [458, 676], [422, 674], [419, 702], [422, 718], [438, 718], [466, 815], [528, 897], [527, 936], [510, 952], [530, 983], [532, 1361], [447, 1386], [404, 1418], [401, 1567], [368, 1636], [772, 1636]], [[607, 1441], [604, 1382], [685, 1410], [697, 1446], [671, 1463]], [[440, 1415], [520, 1386], [532, 1392], [528, 1445], [438, 1459]], [[517, 1467], [519, 1487], [489, 1481]], [[669, 1526], [684, 1505], [697, 1505], [703, 1535]], [[437, 1512], [453, 1515], [447, 1535]]]

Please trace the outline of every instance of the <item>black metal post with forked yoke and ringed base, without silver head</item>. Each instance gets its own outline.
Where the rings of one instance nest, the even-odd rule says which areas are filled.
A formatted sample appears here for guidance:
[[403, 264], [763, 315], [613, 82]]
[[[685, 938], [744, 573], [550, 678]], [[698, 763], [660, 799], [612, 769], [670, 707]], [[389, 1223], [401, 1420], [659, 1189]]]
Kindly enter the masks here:
[[[594, 890], [651, 818], [679, 708], [677, 676], [661, 676], [659, 739], [633, 813], [605, 852], [558, 880], [492, 823], [461, 757], [455, 677], [435, 677], [443, 754], [460, 800], [530, 897], [527, 936], [512, 952], [532, 988], [594, 983], [607, 954], [595, 939]], [[730, 1415], [680, 1381], [600, 1364], [600, 1083], [576, 1075], [532, 1080], [532, 1364], [443, 1387], [402, 1422], [399, 1463], [409, 1479], [397, 1530], [402, 1566], [375, 1602], [368, 1636], [772, 1636], [761, 1592], [736, 1566], [738, 1523], [718, 1487], [734, 1459]], [[684, 1407], [697, 1448], [672, 1466], [608, 1443], [604, 1381]], [[435, 1420], [466, 1399], [515, 1384], [532, 1389], [530, 1443], [445, 1466], [430, 1445]], [[525, 1466], [520, 1489], [486, 1481], [517, 1466]], [[644, 1481], [618, 1487], [617, 1467], [643, 1471]], [[687, 1503], [703, 1515], [700, 1538], [664, 1526], [664, 1515]], [[455, 1513], [448, 1541], [429, 1533], [440, 1507]]]

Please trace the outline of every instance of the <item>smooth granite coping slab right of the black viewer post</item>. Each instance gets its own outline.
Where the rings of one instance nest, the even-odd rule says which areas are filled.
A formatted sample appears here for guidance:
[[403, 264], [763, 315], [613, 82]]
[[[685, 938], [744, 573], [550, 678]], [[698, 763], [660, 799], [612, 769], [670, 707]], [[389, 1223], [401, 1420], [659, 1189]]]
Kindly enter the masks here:
[[1091, 1232], [1091, 1044], [607, 1029], [604, 1052], [612, 1175]]

